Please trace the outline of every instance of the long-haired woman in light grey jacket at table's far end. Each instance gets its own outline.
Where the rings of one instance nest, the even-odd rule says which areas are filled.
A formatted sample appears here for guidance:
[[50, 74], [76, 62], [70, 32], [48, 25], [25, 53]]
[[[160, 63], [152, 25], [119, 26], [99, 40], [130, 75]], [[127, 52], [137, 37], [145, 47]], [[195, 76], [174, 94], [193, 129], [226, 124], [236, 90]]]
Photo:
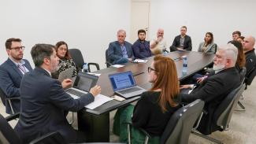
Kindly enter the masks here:
[[206, 54], [215, 54], [217, 50], [217, 44], [213, 42], [213, 33], [206, 32], [204, 42], [201, 42], [198, 46], [198, 52]]

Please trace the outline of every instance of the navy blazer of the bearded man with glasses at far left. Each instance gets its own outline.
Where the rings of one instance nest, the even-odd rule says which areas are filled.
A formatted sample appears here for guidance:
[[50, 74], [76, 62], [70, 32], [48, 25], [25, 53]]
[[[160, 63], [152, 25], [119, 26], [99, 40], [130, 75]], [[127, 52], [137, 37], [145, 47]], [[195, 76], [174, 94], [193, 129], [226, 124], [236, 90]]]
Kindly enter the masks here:
[[[24, 66], [32, 71], [32, 67], [28, 60], [23, 59]], [[0, 65], [0, 88], [7, 97], [20, 97], [20, 81], [22, 79], [22, 72], [9, 58]], [[12, 100], [13, 110], [15, 113], [20, 112], [20, 100]], [[12, 113], [9, 102], [6, 102], [6, 113]]]

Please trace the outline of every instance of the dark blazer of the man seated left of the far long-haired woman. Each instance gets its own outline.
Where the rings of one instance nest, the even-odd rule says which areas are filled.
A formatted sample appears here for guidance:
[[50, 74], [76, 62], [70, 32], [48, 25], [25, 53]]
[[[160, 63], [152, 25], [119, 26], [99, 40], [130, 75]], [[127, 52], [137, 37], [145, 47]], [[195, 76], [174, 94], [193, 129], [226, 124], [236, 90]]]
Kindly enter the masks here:
[[[180, 46], [180, 37], [180, 35], [175, 37], [175, 39], [173, 40], [173, 45], [170, 46], [170, 51], [176, 51], [177, 47]], [[191, 37], [188, 35], [185, 35], [184, 50], [192, 50]]]

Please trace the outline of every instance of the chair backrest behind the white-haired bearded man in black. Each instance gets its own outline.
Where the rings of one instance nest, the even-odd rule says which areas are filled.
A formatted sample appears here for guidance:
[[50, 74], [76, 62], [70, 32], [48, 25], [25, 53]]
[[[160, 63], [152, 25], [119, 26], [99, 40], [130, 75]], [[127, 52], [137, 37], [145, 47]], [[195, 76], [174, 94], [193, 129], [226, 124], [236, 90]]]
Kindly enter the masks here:
[[217, 106], [213, 114], [213, 122], [221, 126], [223, 129], [228, 127], [228, 124], [231, 120], [232, 113], [234, 111], [234, 107], [239, 101], [240, 96], [243, 93], [245, 85], [241, 83], [239, 87], [232, 90], [226, 98], [221, 102], [220, 105]]

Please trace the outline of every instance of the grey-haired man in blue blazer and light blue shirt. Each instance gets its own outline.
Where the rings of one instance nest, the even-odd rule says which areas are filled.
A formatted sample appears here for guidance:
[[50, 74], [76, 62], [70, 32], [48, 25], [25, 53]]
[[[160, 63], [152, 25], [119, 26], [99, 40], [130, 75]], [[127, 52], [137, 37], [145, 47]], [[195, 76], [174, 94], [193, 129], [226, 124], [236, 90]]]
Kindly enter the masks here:
[[117, 31], [117, 41], [110, 42], [108, 48], [108, 59], [113, 65], [124, 64], [134, 59], [132, 44], [125, 41], [126, 32]]

